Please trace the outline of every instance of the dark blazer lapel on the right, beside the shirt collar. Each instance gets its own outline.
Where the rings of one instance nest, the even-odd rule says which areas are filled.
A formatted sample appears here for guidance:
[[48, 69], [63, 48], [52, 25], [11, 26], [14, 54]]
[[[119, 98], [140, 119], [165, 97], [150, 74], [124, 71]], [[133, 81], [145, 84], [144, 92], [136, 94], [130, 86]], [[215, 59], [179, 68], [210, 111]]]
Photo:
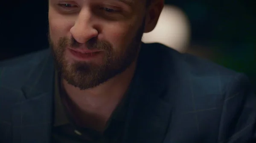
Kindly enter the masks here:
[[166, 97], [166, 70], [161, 57], [149, 47], [141, 49], [137, 71], [131, 84], [131, 101], [123, 143], [162, 143], [171, 118], [172, 107]]

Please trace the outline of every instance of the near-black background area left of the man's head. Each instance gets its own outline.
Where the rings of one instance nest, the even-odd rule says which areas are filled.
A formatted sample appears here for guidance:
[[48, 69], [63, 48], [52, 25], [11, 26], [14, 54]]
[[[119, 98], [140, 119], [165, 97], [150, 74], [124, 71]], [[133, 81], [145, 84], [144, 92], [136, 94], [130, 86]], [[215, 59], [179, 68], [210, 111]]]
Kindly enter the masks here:
[[46, 0], [5, 0], [0, 19], [0, 59], [46, 48]]

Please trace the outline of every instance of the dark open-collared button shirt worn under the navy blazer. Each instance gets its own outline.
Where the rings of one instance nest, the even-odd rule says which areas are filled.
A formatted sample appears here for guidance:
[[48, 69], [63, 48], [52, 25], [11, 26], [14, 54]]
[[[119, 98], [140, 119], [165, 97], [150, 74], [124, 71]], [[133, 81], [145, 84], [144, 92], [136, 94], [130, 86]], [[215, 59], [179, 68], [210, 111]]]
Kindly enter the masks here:
[[112, 113], [103, 133], [92, 129], [76, 126], [72, 116], [63, 104], [63, 98], [67, 98], [64, 90], [61, 90], [60, 78], [55, 74], [55, 119], [52, 132], [53, 143], [119, 143], [125, 125], [125, 115], [128, 107], [128, 95], [126, 94]]

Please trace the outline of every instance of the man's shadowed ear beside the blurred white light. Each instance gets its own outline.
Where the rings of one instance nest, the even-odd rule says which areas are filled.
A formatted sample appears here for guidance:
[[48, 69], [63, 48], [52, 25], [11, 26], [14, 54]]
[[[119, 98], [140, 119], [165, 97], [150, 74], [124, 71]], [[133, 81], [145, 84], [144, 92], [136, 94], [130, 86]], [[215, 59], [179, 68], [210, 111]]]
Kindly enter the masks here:
[[144, 33], [151, 32], [157, 25], [159, 16], [163, 10], [164, 0], [152, 0], [145, 15]]

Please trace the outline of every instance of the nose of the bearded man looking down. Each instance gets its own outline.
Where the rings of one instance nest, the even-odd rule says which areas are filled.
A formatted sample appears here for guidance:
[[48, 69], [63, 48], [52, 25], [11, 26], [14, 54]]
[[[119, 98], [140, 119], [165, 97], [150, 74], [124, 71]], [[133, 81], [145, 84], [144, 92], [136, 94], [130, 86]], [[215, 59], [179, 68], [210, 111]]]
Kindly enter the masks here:
[[98, 36], [98, 31], [94, 27], [92, 18], [92, 14], [89, 10], [80, 11], [75, 24], [70, 29], [70, 33], [77, 42], [85, 43]]

